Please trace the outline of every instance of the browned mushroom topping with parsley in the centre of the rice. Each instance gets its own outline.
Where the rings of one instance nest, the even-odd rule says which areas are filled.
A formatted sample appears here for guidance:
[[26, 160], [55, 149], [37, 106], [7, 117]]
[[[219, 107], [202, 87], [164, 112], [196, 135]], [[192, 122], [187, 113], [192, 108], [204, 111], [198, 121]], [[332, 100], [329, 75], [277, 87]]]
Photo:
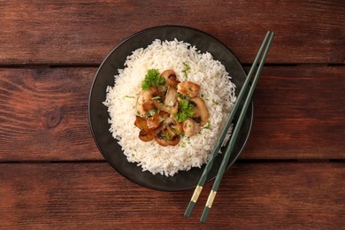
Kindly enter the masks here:
[[210, 118], [203, 99], [197, 97], [199, 89], [192, 81], [177, 80], [173, 70], [160, 74], [157, 69], [149, 69], [136, 102], [134, 125], [140, 129], [139, 139], [174, 146], [180, 142], [180, 135], [198, 134]]

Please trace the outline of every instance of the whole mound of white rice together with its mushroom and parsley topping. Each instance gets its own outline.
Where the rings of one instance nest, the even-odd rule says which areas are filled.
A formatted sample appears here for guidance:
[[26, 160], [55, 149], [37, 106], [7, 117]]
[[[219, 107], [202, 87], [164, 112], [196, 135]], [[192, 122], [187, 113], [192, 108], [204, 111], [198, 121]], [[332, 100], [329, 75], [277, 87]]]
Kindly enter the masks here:
[[187, 42], [155, 40], [118, 72], [103, 104], [127, 160], [165, 176], [205, 164], [236, 100], [225, 66]]

